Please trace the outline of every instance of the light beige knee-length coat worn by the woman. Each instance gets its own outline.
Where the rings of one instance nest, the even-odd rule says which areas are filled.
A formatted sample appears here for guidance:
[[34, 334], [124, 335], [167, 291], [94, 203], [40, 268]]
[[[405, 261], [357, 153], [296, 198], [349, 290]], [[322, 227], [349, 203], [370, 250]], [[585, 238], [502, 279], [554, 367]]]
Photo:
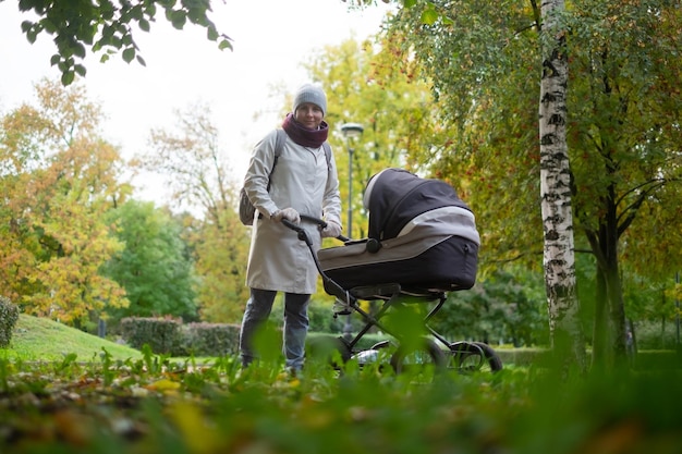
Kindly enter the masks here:
[[[287, 137], [287, 143], [270, 179], [275, 161], [277, 132], [266, 135], [254, 148], [244, 188], [256, 207], [246, 285], [252, 289], [313, 294], [318, 271], [305, 242], [281, 222], [270, 220], [278, 209], [291, 207], [301, 214], [322, 218], [341, 225], [341, 197], [333, 154], [330, 169], [325, 149], [303, 147]], [[313, 240], [313, 250], [320, 248], [317, 225], [302, 221]]]

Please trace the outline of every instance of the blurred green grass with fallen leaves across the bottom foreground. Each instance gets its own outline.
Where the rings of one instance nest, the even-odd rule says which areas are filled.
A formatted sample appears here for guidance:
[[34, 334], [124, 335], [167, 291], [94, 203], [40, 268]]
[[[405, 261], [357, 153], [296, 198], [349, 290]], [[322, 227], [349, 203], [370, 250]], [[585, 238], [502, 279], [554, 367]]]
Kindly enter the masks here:
[[0, 359], [0, 453], [662, 454], [682, 451], [675, 369], [558, 379], [551, 369], [415, 383], [351, 361], [299, 377], [106, 353]]

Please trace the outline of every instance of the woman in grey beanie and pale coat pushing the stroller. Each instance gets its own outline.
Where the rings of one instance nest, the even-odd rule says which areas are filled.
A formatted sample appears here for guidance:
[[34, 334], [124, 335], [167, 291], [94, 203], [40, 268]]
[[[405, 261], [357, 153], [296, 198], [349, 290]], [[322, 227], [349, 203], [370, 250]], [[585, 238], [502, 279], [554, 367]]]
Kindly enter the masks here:
[[[246, 270], [251, 297], [242, 320], [242, 365], [256, 358], [254, 332], [268, 319], [277, 292], [284, 292], [283, 354], [287, 368], [300, 370], [308, 331], [307, 308], [317, 284], [317, 268], [310, 250], [281, 223], [301, 224], [319, 249], [322, 237], [341, 234], [341, 197], [333, 155], [327, 159], [322, 144], [329, 125], [324, 121], [327, 97], [321, 88], [306, 84], [296, 91], [293, 110], [282, 124], [287, 140], [275, 165], [277, 131], [254, 148], [244, 189], [256, 207]], [[269, 184], [269, 186], [268, 186]], [[268, 188], [269, 187], [269, 188]], [[300, 214], [321, 218], [327, 228], [301, 222]]]

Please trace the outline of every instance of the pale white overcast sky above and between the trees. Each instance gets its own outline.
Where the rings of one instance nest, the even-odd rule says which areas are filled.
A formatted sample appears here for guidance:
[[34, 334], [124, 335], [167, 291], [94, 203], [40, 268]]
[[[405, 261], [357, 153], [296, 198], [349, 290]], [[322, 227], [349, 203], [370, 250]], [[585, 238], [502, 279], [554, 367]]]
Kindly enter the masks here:
[[[33, 102], [34, 84], [60, 75], [49, 63], [56, 51], [50, 37], [39, 36], [29, 45], [21, 33], [27, 17], [17, 2], [0, 1], [1, 113]], [[388, 11], [382, 2], [363, 12], [349, 11], [341, 0], [214, 0], [212, 8], [210, 17], [233, 39], [233, 51], [218, 50], [194, 25], [180, 32], [160, 17], [150, 33], [135, 35], [146, 66], [129, 65], [120, 56], [107, 63], [99, 63], [99, 54], [86, 60], [88, 97], [102, 106], [106, 138], [119, 145], [124, 157], [145, 146], [153, 127], [172, 126], [174, 109], [202, 101], [210, 103], [223, 148], [241, 175], [251, 147], [279, 123], [280, 106], [268, 98], [270, 86], [293, 91], [306, 82], [300, 68], [306, 56], [350, 37], [376, 34]], [[264, 109], [272, 114], [254, 122], [254, 113]], [[135, 184], [139, 197], [162, 200], [158, 182]]]

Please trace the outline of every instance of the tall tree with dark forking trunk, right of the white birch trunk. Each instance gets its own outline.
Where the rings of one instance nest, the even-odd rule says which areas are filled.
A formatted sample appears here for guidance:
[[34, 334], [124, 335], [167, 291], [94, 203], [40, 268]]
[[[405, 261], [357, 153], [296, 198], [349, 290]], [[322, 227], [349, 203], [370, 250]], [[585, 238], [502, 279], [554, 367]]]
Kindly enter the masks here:
[[[621, 261], [628, 259], [654, 280], [662, 278], [665, 267], [682, 266], [674, 248], [660, 247], [674, 235], [634, 236], [654, 224], [682, 221], [666, 203], [679, 194], [682, 176], [677, 126], [682, 99], [675, 88], [682, 82], [681, 24], [680, 9], [668, 1], [631, 0], [576, 2], [569, 21], [580, 44], [573, 46], [580, 52], [572, 51], [572, 68], [582, 76], [574, 84], [572, 108], [575, 213], [597, 262], [597, 365], [625, 360]], [[631, 253], [624, 255], [623, 246]], [[658, 254], [644, 253], [642, 266], [638, 254], [632, 254], [635, 246]]]

